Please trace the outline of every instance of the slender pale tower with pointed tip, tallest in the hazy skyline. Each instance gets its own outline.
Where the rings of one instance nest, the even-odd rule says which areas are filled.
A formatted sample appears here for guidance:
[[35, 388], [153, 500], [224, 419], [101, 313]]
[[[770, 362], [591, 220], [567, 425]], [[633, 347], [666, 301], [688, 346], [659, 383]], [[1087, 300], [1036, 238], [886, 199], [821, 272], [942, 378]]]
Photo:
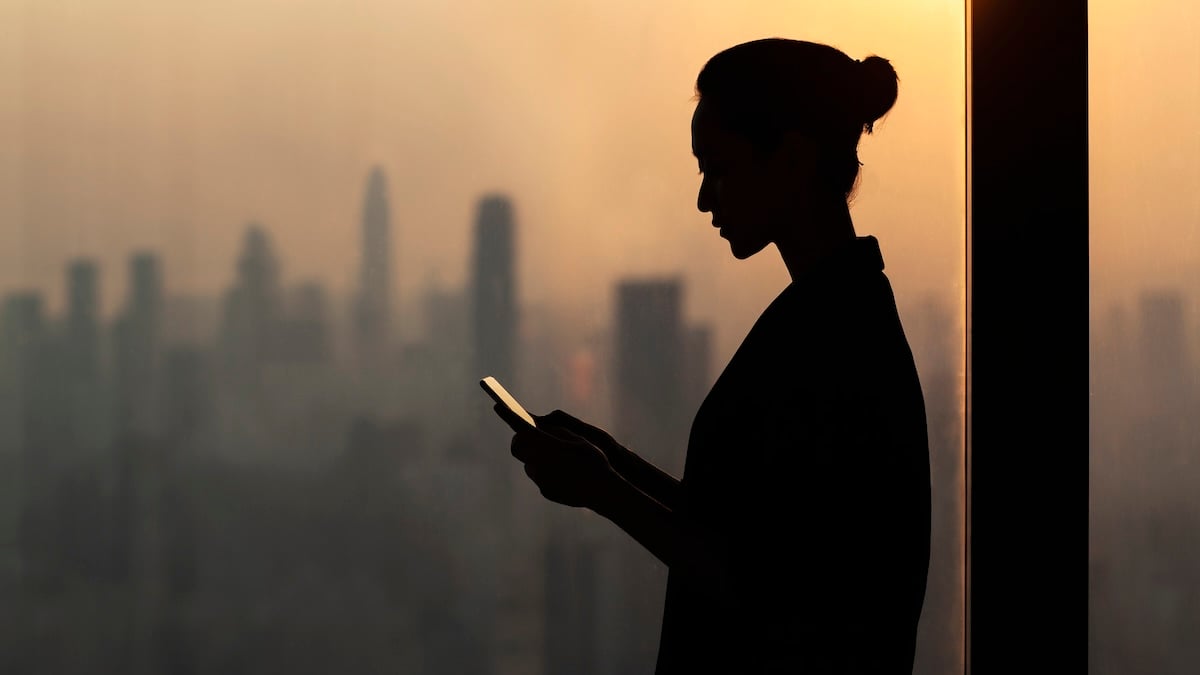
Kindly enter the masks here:
[[355, 357], [378, 368], [388, 350], [391, 315], [391, 215], [388, 181], [380, 167], [371, 169], [362, 198], [362, 257], [354, 307]]

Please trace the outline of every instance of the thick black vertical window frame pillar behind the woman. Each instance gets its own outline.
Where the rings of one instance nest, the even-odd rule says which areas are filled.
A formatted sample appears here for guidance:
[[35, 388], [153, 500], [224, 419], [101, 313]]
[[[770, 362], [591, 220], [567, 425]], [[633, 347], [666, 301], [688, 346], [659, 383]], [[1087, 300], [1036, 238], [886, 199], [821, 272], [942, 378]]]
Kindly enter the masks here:
[[966, 16], [965, 671], [1086, 673], [1087, 2]]

